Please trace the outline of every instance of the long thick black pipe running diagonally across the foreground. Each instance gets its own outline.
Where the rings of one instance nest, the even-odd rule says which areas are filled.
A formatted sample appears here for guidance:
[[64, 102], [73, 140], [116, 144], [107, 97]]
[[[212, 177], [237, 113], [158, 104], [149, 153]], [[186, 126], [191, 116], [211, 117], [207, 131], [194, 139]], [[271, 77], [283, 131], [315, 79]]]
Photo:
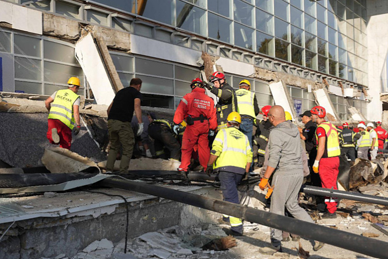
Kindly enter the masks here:
[[388, 250], [388, 243], [380, 240], [319, 226], [317, 224], [308, 223], [289, 217], [284, 217], [283, 215], [270, 213], [264, 210], [246, 207], [214, 198], [204, 197], [198, 194], [173, 190], [157, 185], [149, 185], [141, 182], [118, 179], [104, 179], [100, 181], [99, 184], [106, 187], [145, 193], [173, 201], [178, 201], [184, 204], [205, 208], [219, 213], [228, 214], [236, 218], [245, 219], [249, 222], [254, 222], [271, 228], [287, 231], [289, 233], [294, 233], [307, 239], [318, 240], [362, 254], [388, 259], [388, 253], [386, 252]]

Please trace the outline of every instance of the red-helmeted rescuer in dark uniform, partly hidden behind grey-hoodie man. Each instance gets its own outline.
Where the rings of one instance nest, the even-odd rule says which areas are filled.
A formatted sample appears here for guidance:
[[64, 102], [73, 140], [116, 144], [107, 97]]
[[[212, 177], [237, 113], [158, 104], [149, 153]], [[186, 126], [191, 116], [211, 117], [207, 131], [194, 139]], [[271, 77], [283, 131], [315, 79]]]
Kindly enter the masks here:
[[271, 109], [271, 105], [266, 105], [263, 108], [261, 108], [260, 114], [263, 115], [263, 119], [260, 121], [258, 129], [256, 131], [256, 136], [258, 138], [255, 138], [257, 145], [258, 145], [258, 167], [262, 167], [264, 163], [264, 155], [265, 155], [265, 148], [268, 143], [268, 137], [269, 137], [269, 130], [272, 127], [272, 124], [268, 120], [268, 112], [269, 109]]

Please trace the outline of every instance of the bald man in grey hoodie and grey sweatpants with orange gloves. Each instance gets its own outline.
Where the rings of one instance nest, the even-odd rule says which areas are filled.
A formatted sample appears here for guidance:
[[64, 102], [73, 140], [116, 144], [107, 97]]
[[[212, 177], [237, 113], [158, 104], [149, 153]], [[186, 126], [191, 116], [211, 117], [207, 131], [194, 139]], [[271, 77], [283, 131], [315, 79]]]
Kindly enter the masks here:
[[[284, 109], [275, 105], [269, 110], [268, 119], [274, 126], [269, 135], [268, 166], [259, 187], [269, 187], [268, 179], [273, 176], [273, 193], [270, 212], [284, 215], [284, 207], [294, 218], [314, 223], [309, 214], [299, 206], [298, 196], [303, 182], [303, 165], [301, 138], [298, 127], [285, 120]], [[271, 246], [262, 249], [261, 253], [273, 254], [281, 251], [281, 230], [271, 229]], [[318, 251], [323, 243], [315, 241], [313, 250]]]

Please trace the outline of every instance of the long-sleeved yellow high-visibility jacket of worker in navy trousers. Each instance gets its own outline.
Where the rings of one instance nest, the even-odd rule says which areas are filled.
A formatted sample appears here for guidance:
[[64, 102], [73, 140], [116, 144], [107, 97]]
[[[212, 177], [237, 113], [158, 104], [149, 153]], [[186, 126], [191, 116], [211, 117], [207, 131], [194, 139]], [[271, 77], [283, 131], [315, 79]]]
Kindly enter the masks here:
[[217, 171], [243, 175], [247, 162], [252, 162], [252, 149], [247, 136], [235, 127], [219, 131], [213, 141], [211, 154], [218, 156], [213, 164]]

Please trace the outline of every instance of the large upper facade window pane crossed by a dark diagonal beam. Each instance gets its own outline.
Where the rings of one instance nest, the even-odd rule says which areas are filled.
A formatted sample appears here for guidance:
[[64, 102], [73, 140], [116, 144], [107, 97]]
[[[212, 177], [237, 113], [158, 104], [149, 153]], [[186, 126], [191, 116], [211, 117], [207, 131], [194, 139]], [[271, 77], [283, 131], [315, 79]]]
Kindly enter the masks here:
[[205, 10], [181, 1], [176, 2], [176, 27], [205, 35], [205, 24]]

